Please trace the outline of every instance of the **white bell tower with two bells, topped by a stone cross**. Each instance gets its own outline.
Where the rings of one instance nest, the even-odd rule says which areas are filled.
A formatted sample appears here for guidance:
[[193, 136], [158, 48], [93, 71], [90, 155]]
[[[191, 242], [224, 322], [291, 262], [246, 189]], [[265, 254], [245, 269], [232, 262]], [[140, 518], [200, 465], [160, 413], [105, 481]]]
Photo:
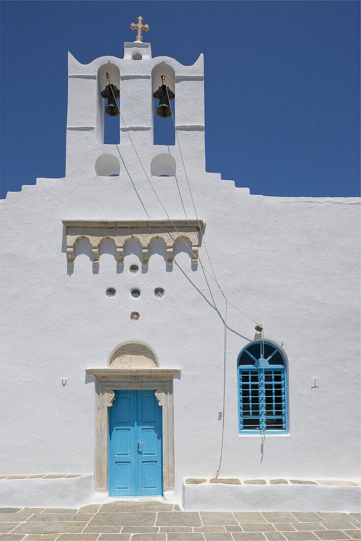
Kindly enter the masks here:
[[[140, 19], [138, 25], [132, 23], [135, 30]], [[147, 31], [147, 26], [141, 24], [141, 30]], [[114, 99], [108, 107], [114, 113], [108, 120], [120, 124], [119, 144], [104, 144], [109, 84], [116, 89], [111, 98], [119, 96], [119, 119]], [[173, 145], [154, 144], [154, 108], [159, 99], [160, 116], [171, 115], [169, 105], [174, 110], [178, 141]], [[81, 64], [69, 53], [67, 176], [116, 175], [118, 163], [134, 167], [136, 153], [149, 176], [175, 176], [182, 168], [180, 148], [187, 168], [193, 174], [205, 173], [204, 130], [203, 55], [191, 66], [167, 56], [152, 58], [150, 43], [141, 39], [124, 43], [123, 58], [103, 56]]]

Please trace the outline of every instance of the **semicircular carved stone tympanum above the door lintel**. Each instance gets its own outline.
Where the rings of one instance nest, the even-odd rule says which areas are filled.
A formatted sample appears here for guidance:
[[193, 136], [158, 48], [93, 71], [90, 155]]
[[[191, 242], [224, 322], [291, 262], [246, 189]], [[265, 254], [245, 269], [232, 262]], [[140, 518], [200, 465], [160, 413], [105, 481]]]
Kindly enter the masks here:
[[111, 354], [110, 368], [158, 368], [152, 349], [145, 344], [128, 342], [117, 347]]

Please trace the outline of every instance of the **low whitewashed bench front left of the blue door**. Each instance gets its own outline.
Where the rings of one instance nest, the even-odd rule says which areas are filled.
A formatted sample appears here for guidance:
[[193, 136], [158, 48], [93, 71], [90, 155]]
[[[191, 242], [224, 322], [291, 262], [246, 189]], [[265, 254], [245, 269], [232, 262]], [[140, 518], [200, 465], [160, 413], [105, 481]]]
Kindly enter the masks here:
[[8, 507], [69, 507], [90, 501], [94, 476], [68, 479], [1, 479], [0, 500]]

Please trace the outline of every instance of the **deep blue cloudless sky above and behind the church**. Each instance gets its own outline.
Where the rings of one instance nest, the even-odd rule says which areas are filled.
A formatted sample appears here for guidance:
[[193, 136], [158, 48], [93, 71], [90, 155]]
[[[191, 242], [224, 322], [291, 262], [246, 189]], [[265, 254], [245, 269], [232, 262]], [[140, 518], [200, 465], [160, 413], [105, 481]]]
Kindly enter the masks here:
[[67, 51], [205, 55], [206, 169], [253, 194], [359, 195], [359, 2], [1, 2], [2, 189], [65, 174]]

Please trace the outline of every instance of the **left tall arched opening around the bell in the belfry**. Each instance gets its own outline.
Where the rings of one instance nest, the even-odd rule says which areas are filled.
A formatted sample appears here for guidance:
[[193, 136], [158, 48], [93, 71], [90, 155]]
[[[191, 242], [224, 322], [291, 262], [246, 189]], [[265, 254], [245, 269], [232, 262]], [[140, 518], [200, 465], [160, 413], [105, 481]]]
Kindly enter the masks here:
[[[120, 70], [115, 64], [103, 64], [97, 74], [98, 91], [97, 91], [97, 142], [100, 144], [119, 144], [120, 143], [120, 115], [116, 104], [120, 107], [120, 98], [114, 100], [113, 93], [108, 89], [109, 81], [106, 74], [109, 74], [110, 84], [113, 85], [113, 92], [117, 96], [117, 91], [120, 91]], [[116, 87], [116, 89], [115, 89]], [[109, 94], [109, 97], [104, 98], [102, 92]], [[110, 116], [105, 112], [106, 105], [113, 104], [114, 116]], [[117, 113], [115, 115], [115, 113]]]

